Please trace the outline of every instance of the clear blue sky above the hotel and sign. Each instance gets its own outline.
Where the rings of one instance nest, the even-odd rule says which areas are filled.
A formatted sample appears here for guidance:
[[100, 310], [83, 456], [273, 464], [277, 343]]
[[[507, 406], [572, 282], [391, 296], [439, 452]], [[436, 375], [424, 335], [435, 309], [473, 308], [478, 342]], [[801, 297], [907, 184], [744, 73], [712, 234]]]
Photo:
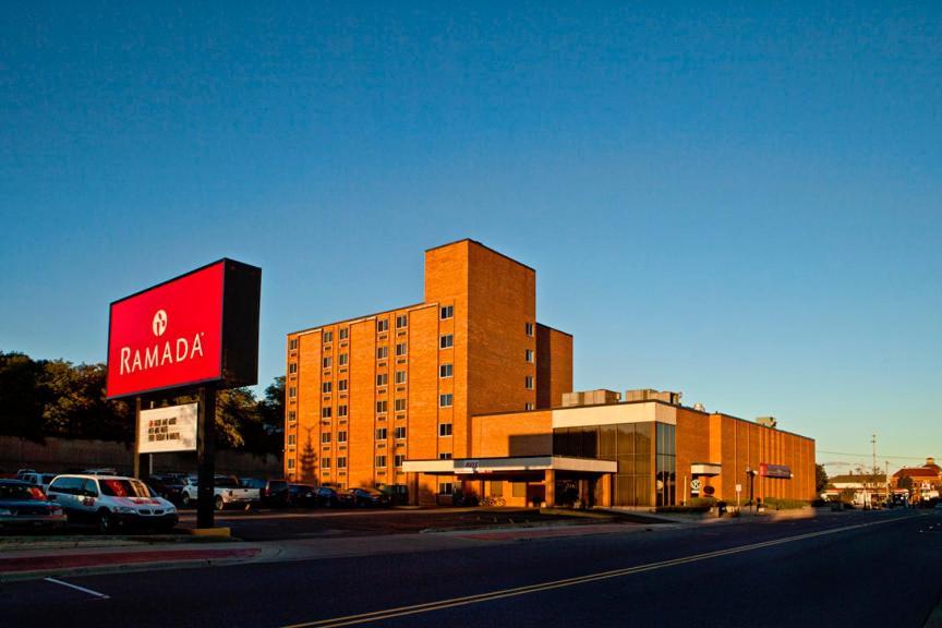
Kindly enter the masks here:
[[942, 458], [940, 5], [392, 4], [8, 5], [0, 350], [104, 361], [110, 301], [229, 256], [264, 385], [469, 237], [579, 389]]

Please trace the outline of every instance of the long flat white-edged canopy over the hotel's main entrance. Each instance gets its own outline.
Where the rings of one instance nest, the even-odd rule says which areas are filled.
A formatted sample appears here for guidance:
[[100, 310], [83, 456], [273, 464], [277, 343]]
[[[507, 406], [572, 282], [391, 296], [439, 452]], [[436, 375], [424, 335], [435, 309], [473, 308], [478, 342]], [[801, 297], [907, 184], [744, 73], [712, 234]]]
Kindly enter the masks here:
[[431, 473], [463, 475], [474, 473], [508, 473], [515, 471], [585, 471], [590, 473], [615, 473], [618, 463], [595, 458], [568, 458], [565, 456], [520, 456], [512, 458], [455, 458], [452, 460], [406, 460], [402, 470], [407, 473]]

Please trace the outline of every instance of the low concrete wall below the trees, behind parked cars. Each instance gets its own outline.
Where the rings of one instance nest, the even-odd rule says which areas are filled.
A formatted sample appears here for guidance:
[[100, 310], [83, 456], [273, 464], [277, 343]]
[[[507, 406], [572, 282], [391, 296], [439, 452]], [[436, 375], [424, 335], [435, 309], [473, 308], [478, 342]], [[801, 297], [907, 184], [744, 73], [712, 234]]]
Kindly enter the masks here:
[[[132, 445], [108, 440], [47, 438], [45, 444], [14, 436], [0, 436], [0, 470], [15, 473], [17, 469], [36, 469], [59, 473], [69, 469], [111, 467], [119, 473], [134, 469]], [[196, 452], [155, 454], [154, 472], [195, 472]], [[233, 475], [281, 476], [281, 460], [276, 456], [253, 456], [244, 451], [222, 449], [216, 452], [216, 471]]]

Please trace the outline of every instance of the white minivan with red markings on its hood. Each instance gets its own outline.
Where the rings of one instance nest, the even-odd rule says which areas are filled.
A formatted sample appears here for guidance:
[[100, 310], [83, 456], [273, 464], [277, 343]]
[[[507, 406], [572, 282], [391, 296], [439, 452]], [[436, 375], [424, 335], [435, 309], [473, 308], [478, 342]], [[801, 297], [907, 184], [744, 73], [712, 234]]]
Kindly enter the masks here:
[[177, 507], [158, 497], [146, 484], [120, 475], [58, 475], [49, 485], [69, 522], [90, 522], [105, 534], [123, 528], [177, 526]]

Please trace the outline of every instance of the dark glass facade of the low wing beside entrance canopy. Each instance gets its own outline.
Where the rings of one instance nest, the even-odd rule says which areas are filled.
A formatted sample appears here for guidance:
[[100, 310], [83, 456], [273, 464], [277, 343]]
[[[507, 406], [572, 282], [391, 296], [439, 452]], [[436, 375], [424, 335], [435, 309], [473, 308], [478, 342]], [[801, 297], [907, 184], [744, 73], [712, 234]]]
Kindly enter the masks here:
[[661, 506], [676, 495], [675, 427], [666, 423], [619, 423], [559, 427], [553, 454], [615, 460], [615, 506]]

